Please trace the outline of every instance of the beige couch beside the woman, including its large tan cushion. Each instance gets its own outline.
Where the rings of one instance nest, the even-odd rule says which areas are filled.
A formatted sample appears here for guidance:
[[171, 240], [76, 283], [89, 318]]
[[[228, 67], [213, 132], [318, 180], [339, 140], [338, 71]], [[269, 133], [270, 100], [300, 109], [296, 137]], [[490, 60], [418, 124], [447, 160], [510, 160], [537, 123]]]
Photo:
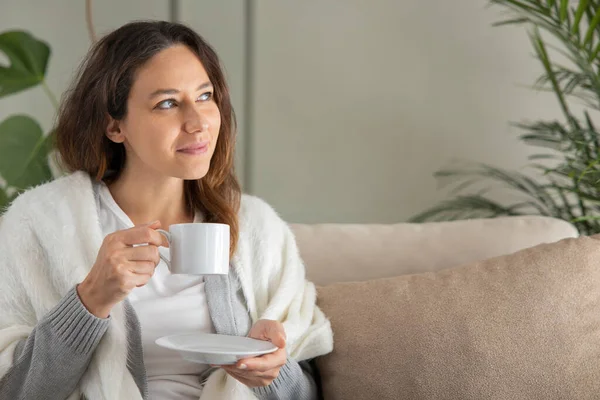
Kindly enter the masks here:
[[536, 216], [291, 228], [334, 332], [325, 400], [600, 399], [598, 237]]

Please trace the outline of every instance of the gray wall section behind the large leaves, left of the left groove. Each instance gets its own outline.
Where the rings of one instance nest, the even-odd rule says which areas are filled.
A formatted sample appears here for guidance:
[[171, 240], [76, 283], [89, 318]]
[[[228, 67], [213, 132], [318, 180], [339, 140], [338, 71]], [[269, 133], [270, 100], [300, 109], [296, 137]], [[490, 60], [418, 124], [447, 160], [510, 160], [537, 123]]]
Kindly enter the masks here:
[[[168, 11], [168, 2], [164, 0], [103, 0], [95, 2], [93, 7], [98, 34], [132, 19], [166, 19]], [[0, 0], [0, 31], [12, 29], [27, 30], [48, 42], [52, 54], [47, 81], [59, 97], [91, 43], [85, 24], [85, 2]], [[39, 87], [0, 99], [0, 119], [14, 113], [32, 115], [46, 131], [54, 119], [54, 108]]]

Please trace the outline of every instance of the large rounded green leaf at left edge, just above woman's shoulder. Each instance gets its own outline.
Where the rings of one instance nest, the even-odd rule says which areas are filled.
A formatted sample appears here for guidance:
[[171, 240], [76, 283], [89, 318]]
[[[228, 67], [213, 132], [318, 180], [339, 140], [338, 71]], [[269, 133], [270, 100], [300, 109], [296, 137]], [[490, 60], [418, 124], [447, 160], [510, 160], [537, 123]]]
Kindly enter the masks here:
[[19, 190], [52, 179], [48, 145], [38, 123], [15, 115], [0, 124], [0, 175]]

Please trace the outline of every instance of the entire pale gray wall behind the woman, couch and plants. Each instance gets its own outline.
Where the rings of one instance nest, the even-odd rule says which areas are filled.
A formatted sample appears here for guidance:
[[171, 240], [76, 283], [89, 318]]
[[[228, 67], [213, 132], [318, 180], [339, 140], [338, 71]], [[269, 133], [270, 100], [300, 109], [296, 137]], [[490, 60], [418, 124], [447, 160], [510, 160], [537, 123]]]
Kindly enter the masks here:
[[[168, 19], [171, 4], [96, 1], [96, 28]], [[432, 175], [452, 160], [520, 169], [530, 150], [509, 122], [556, 111], [525, 87], [540, 72], [525, 32], [492, 28], [485, 0], [174, 4], [223, 59], [246, 190], [289, 221], [403, 221], [442, 198]], [[0, 0], [12, 28], [51, 44], [61, 93], [90, 43], [84, 1]], [[0, 100], [0, 118], [24, 111], [51, 126], [40, 89]]]

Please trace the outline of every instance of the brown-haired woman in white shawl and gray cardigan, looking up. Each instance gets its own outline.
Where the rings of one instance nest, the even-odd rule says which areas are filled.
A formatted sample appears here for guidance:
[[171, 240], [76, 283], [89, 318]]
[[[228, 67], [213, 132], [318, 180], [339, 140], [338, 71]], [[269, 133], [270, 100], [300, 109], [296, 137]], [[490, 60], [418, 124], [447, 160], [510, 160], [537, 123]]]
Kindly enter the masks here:
[[[0, 398], [317, 396], [308, 360], [331, 327], [287, 225], [240, 194], [234, 141], [219, 60], [189, 28], [130, 23], [91, 49], [56, 129], [72, 174], [0, 224]], [[156, 229], [193, 221], [230, 226], [228, 276], [166, 272]], [[194, 331], [279, 350], [207, 366], [154, 344]]]

